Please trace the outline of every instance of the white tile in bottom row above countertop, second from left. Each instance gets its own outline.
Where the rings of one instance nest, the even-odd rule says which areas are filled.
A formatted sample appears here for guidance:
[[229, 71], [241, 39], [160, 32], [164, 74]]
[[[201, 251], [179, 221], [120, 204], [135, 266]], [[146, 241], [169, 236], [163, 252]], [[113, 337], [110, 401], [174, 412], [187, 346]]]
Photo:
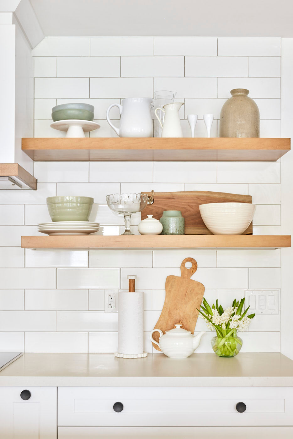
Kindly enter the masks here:
[[84, 332], [25, 332], [25, 352], [87, 353]]

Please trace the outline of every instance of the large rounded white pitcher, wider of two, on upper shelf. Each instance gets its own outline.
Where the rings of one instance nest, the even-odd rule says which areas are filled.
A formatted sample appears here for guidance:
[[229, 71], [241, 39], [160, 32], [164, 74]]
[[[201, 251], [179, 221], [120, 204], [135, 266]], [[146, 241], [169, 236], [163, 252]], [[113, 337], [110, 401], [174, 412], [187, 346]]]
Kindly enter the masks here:
[[[122, 105], [112, 104], [106, 112], [106, 119], [119, 137], [152, 137], [151, 97], [127, 97]], [[116, 128], [109, 118], [112, 107], [118, 107], [120, 128]]]

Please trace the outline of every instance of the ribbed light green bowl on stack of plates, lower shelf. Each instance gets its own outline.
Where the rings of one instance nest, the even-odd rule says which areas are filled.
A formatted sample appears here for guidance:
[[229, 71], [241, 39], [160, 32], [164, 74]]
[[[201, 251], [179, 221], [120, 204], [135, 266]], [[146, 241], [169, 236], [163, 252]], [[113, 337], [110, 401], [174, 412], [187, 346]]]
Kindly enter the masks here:
[[48, 197], [47, 206], [52, 221], [88, 221], [94, 198], [65, 195]]

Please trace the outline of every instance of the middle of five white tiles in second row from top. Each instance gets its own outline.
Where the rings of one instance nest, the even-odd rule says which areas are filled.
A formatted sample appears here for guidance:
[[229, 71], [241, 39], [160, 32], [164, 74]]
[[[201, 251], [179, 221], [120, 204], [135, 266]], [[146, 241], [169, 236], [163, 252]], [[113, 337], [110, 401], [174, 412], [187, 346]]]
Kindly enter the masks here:
[[[109, 75], [108, 75], [109, 76]], [[121, 76], [184, 76], [184, 57], [129, 56], [121, 57]], [[198, 75], [200, 76], [200, 75]]]

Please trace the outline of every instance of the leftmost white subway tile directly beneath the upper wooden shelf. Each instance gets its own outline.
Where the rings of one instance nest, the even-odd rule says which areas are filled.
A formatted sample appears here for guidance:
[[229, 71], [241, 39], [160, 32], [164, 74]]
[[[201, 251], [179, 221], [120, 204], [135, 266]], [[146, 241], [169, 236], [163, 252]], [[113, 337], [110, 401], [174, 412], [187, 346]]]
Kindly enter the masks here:
[[35, 162], [34, 176], [38, 183], [88, 182], [88, 162]]

